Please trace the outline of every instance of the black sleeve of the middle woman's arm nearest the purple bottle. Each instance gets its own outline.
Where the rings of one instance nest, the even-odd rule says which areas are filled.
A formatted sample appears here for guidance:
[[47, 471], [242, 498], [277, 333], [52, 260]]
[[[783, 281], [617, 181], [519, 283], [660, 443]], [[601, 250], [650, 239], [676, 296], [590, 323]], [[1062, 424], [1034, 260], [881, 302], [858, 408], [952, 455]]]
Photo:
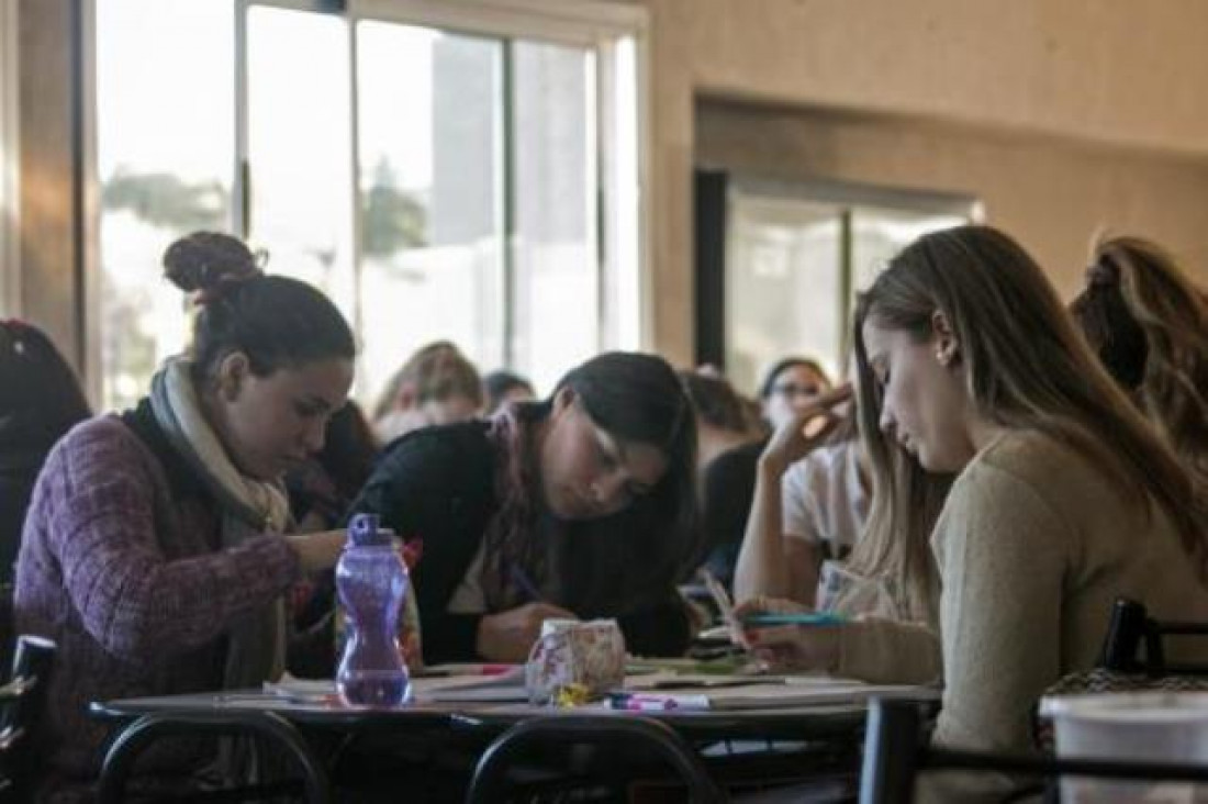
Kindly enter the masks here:
[[478, 614], [451, 614], [453, 592], [478, 550], [490, 514], [494, 457], [481, 422], [417, 430], [391, 444], [353, 502], [382, 525], [423, 540], [411, 575], [424, 661], [474, 661]]

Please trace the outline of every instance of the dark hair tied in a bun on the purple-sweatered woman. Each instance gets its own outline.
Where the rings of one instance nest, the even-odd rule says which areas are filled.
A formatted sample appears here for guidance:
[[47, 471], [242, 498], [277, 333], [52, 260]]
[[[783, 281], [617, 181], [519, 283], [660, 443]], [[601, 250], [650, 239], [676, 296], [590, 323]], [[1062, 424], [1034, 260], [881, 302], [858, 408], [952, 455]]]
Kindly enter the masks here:
[[268, 276], [240, 241], [194, 232], [163, 255], [164, 273], [201, 306], [191, 354], [203, 381], [233, 352], [267, 376], [319, 360], [356, 355], [348, 322], [319, 290], [289, 277]]

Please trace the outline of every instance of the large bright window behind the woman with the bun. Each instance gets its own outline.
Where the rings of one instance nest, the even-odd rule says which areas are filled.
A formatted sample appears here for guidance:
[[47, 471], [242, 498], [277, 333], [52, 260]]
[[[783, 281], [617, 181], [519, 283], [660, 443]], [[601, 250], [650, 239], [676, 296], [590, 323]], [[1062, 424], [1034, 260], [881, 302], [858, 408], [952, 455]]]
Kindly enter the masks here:
[[643, 10], [94, 2], [105, 406], [182, 347], [159, 258], [198, 227], [331, 296], [362, 399], [436, 339], [541, 389], [639, 347]]

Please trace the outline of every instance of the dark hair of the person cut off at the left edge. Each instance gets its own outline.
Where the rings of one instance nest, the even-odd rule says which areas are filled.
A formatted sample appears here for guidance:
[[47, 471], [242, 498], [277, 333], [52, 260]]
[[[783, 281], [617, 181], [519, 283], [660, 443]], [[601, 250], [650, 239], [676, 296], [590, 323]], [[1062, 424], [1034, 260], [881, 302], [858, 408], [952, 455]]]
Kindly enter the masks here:
[[80, 381], [36, 326], [0, 322], [0, 456], [41, 457], [92, 416]]

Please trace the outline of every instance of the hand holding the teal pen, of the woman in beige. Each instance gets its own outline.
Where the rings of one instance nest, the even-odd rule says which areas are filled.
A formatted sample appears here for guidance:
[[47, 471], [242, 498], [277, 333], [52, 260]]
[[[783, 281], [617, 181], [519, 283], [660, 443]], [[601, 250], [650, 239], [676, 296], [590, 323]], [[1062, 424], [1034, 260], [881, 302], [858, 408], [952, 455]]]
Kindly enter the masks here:
[[734, 641], [748, 648], [771, 670], [821, 670], [838, 666], [838, 629], [842, 626], [771, 625], [743, 627], [750, 614], [798, 614], [808, 606], [777, 597], [753, 597], [734, 607], [738, 632]]

